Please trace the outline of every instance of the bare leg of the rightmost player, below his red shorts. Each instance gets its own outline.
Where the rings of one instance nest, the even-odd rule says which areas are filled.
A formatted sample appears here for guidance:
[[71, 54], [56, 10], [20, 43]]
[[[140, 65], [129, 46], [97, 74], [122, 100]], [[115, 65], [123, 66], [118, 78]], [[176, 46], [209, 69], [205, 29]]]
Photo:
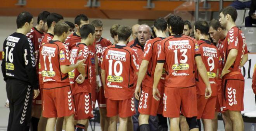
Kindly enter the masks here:
[[233, 131], [244, 131], [244, 121], [241, 112], [228, 110], [228, 114], [232, 122]]

